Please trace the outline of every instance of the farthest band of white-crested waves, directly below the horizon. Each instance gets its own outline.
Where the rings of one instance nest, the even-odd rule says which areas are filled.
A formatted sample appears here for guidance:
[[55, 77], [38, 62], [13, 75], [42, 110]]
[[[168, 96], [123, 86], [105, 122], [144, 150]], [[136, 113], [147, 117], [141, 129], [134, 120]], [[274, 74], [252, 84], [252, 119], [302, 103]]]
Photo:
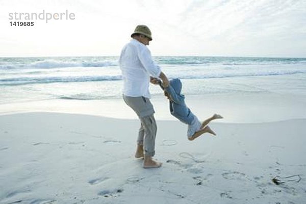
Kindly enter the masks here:
[[[159, 65], [173, 66], [248, 66], [306, 64], [305, 58], [155, 56], [153, 57], [153, 60]], [[110, 66], [119, 66], [118, 57], [0, 58], [0, 70]]]

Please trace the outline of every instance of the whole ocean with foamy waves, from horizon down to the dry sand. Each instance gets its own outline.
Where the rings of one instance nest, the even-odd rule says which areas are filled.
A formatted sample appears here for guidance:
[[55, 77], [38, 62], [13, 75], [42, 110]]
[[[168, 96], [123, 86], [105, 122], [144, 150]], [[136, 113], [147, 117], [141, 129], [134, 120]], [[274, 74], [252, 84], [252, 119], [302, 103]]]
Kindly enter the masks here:
[[[203, 114], [222, 112], [239, 122], [270, 121], [271, 116], [261, 119], [267, 112], [273, 120], [305, 117], [306, 58], [157, 56], [154, 61], [169, 79], [182, 80], [196, 112], [205, 105]], [[0, 114], [133, 115], [122, 104], [122, 85], [118, 57], [0, 58]], [[150, 93], [159, 99], [154, 105], [161, 118], [172, 118], [159, 86], [150, 86]]]

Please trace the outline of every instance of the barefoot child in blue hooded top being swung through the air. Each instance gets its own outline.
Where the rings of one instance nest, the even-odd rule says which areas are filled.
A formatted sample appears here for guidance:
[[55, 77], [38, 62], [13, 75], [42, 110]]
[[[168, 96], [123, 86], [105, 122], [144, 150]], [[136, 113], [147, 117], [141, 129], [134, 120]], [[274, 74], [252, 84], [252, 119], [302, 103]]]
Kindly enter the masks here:
[[156, 78], [153, 81], [160, 85], [160, 87], [164, 90], [165, 96], [169, 99], [171, 115], [188, 124], [187, 136], [189, 140], [194, 140], [203, 133], [216, 135], [207, 124], [214, 119], [220, 119], [223, 117], [221, 115], [214, 114], [212, 117], [201, 123], [185, 104], [185, 96], [181, 94], [181, 80], [170, 80], [169, 86], [167, 87], [163, 87], [161, 81]]

